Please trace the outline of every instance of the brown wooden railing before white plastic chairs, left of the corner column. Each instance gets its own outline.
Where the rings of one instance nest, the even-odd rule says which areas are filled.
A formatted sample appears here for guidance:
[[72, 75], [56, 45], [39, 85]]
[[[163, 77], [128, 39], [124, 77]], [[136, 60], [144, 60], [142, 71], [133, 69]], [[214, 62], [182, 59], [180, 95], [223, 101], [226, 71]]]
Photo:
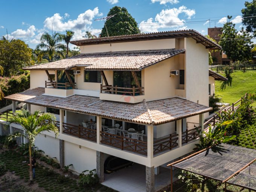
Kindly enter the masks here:
[[147, 155], [147, 142], [130, 139], [101, 131], [101, 143], [110, 145], [121, 150], [131, 151], [142, 155]]

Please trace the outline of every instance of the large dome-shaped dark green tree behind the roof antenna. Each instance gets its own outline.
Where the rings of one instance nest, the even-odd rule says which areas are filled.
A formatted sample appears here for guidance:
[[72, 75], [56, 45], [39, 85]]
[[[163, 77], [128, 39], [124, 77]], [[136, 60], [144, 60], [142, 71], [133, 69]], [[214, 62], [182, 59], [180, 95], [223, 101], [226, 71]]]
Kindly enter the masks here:
[[[116, 14], [116, 15], [115, 15]], [[100, 37], [118, 36], [118, 35], [132, 35], [140, 33], [137, 22], [128, 13], [126, 8], [114, 6], [108, 12], [108, 16], [115, 15], [105, 22], [107, 26], [108, 34], [105, 25], [102, 27]]]

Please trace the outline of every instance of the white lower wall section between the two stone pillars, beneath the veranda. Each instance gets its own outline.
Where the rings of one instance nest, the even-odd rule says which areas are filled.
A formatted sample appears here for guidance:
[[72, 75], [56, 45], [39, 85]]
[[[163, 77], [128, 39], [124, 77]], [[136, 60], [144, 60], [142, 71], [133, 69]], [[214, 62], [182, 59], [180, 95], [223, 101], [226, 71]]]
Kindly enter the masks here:
[[96, 151], [85, 148], [74, 143], [64, 142], [65, 165], [73, 164], [70, 167], [73, 171], [81, 173], [84, 170], [96, 169]]

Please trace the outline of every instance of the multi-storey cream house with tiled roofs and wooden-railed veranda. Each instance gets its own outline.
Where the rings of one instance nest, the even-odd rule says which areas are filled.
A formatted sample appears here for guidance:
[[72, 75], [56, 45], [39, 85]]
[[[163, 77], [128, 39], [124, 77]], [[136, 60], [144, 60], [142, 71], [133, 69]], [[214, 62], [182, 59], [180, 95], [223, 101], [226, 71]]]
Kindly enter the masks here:
[[[195, 30], [71, 43], [80, 47], [80, 55], [24, 67], [30, 70], [30, 89], [6, 99], [13, 101], [13, 110], [18, 101], [32, 113], [56, 115], [59, 137], [44, 133], [35, 145], [61, 166], [73, 164], [77, 172], [96, 168], [106, 183], [111, 174], [104, 175], [104, 162], [112, 155], [136, 163], [130, 169], [142, 169], [144, 176], [137, 180], [131, 171], [111, 182], [125, 177], [142, 182], [131, 183], [130, 191], [159, 189], [155, 178], [167, 178], [161, 177], [160, 166], [199, 142], [195, 126], [203, 127], [211, 110], [208, 51], [221, 47]], [[18, 125], [10, 131], [14, 128]], [[119, 186], [113, 188], [125, 191]]]

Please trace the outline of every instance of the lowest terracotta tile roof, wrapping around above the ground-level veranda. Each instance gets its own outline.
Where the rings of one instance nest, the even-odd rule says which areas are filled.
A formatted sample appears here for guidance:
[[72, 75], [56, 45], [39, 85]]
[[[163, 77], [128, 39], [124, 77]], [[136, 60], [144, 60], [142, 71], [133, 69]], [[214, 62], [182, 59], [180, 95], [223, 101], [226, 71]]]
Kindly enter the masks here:
[[9, 95], [5, 99], [145, 125], [173, 122], [212, 109], [178, 97], [130, 104], [82, 95], [58, 98], [43, 93], [44, 88], [35, 88]]

